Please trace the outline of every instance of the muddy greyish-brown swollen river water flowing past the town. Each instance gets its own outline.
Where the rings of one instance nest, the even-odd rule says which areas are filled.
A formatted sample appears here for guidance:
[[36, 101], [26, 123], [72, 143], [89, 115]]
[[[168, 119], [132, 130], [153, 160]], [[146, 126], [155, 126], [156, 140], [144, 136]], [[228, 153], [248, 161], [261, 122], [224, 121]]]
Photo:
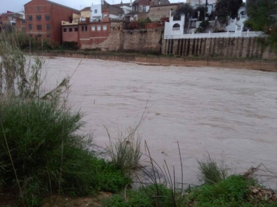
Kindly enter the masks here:
[[[55, 86], [80, 60], [45, 57], [46, 81]], [[68, 103], [85, 112], [85, 130], [101, 147], [109, 142], [104, 125], [116, 138], [147, 104], [142, 140], [159, 164], [175, 166], [178, 179], [179, 141], [185, 183], [198, 183], [197, 160], [208, 153], [230, 173], [259, 163], [277, 171], [277, 73], [82, 59], [70, 83]]]

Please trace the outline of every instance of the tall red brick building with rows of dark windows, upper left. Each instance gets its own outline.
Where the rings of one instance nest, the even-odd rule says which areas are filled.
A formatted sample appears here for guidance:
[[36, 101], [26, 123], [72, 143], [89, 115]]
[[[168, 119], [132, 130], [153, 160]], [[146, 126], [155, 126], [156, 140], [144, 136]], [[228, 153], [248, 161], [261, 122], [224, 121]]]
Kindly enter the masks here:
[[62, 43], [61, 21], [72, 21], [72, 9], [48, 0], [32, 0], [24, 5], [26, 33], [31, 37], [48, 39], [58, 46]]

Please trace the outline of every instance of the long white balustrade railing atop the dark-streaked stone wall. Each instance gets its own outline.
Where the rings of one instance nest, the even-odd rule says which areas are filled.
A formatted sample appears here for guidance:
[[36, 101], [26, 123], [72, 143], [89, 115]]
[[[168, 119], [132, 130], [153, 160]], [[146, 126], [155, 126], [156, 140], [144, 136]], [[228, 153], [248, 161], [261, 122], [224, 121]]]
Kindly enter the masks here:
[[258, 37], [266, 36], [263, 32], [223, 32], [223, 33], [192, 33], [181, 35], [165, 35], [164, 39], [188, 39], [188, 38], [223, 38], [223, 37]]

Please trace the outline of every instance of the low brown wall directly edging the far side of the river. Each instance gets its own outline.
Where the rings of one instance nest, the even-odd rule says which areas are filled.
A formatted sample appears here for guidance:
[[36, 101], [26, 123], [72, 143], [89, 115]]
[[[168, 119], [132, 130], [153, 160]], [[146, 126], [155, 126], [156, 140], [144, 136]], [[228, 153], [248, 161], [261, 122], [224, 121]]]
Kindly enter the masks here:
[[[35, 55], [41, 55], [38, 52]], [[58, 52], [44, 52], [44, 56], [57, 56], [57, 57], [73, 57], [73, 58], [92, 58], [103, 59], [123, 62], [135, 63], [149, 63], [157, 65], [176, 65], [176, 66], [206, 66], [206, 67], [224, 67], [224, 68], [237, 68], [237, 69], [254, 69], [260, 71], [273, 71], [277, 72], [277, 61], [263, 61], [263, 60], [230, 60], [230, 59], [195, 59], [183, 57], [168, 57], [168, 56], [139, 56], [128, 54], [114, 54], [110, 53], [58, 53]]]

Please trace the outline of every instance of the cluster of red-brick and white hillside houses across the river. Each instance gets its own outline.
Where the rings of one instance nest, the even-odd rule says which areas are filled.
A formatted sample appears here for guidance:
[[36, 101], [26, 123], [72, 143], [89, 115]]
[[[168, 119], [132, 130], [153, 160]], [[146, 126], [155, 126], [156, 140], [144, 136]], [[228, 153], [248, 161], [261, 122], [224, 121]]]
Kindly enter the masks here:
[[[245, 7], [239, 8], [235, 18], [227, 16], [227, 21], [220, 23], [214, 15], [217, 0], [208, 0], [207, 5], [204, 0], [186, 2], [194, 9], [188, 21], [184, 15], [176, 15], [183, 3], [168, 0], [130, 0], [113, 5], [96, 0], [81, 10], [49, 0], [31, 0], [24, 5], [25, 13], [8, 11], [0, 15], [0, 32], [26, 32], [30, 38], [48, 40], [54, 47], [74, 45], [74, 48], [96, 48], [111, 34], [120, 39], [119, 31], [135, 29], [145, 32], [164, 28], [164, 39], [258, 35], [243, 33], [247, 30], [243, 22], [248, 19]], [[208, 25], [199, 30], [203, 21]], [[219, 30], [221, 33], [215, 33]]]

